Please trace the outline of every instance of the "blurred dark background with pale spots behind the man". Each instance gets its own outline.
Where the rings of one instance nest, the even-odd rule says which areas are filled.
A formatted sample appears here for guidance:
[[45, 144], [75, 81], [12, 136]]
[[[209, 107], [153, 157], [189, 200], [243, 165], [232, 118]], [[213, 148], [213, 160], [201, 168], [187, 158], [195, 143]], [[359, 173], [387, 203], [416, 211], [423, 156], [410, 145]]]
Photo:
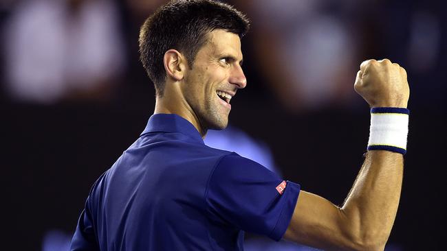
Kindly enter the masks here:
[[[387, 249], [444, 248], [446, 6], [227, 2], [252, 20], [242, 40], [248, 86], [232, 100], [231, 125], [267, 145], [285, 179], [335, 204], [356, 178], [369, 134], [369, 107], [352, 88], [360, 62], [389, 58], [406, 69], [408, 154]], [[162, 3], [1, 1], [2, 222], [10, 250], [63, 246], [91, 184], [144, 129], [155, 92], [138, 61], [138, 31]]]

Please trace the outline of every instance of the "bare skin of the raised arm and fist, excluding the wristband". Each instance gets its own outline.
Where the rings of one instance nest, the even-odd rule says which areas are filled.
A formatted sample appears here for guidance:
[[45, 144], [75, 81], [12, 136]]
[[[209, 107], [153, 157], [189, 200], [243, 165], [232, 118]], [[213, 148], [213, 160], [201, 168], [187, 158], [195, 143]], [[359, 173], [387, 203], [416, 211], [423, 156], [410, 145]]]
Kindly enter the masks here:
[[[407, 106], [406, 72], [389, 60], [363, 62], [354, 88], [371, 108]], [[398, 131], [406, 125], [396, 126], [401, 127]], [[388, 135], [393, 138], [393, 133]], [[379, 141], [396, 141], [386, 137], [382, 135]], [[397, 137], [402, 141], [402, 136]], [[343, 206], [340, 208], [318, 195], [301, 191], [285, 239], [325, 250], [384, 250], [399, 204], [404, 160], [398, 153], [402, 149], [393, 149], [391, 144], [389, 148], [371, 147], [370, 138], [369, 145], [370, 150]]]

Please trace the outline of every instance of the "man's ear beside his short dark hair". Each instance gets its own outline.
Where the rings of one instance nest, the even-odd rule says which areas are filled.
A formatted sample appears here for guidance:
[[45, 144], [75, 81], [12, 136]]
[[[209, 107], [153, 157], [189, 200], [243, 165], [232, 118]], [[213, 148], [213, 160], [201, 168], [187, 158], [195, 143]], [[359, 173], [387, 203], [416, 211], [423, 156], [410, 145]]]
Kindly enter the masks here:
[[186, 58], [175, 49], [170, 49], [164, 53], [164, 70], [167, 77], [175, 81], [182, 80], [186, 71]]

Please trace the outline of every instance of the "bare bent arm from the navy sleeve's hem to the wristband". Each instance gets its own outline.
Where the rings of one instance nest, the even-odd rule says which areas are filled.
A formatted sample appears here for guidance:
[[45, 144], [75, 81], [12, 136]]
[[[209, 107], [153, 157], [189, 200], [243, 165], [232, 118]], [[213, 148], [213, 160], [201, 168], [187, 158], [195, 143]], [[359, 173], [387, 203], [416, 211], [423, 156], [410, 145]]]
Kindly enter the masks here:
[[402, 154], [373, 150], [340, 208], [301, 191], [284, 237], [324, 250], [383, 250], [402, 186]]

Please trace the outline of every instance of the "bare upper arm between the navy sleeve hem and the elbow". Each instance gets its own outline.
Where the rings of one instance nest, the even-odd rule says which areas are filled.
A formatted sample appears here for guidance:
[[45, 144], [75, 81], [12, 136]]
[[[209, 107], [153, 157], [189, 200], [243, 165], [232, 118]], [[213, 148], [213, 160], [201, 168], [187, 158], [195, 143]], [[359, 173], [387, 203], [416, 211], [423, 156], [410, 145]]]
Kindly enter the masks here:
[[348, 224], [340, 207], [301, 191], [284, 238], [316, 248], [349, 250]]

